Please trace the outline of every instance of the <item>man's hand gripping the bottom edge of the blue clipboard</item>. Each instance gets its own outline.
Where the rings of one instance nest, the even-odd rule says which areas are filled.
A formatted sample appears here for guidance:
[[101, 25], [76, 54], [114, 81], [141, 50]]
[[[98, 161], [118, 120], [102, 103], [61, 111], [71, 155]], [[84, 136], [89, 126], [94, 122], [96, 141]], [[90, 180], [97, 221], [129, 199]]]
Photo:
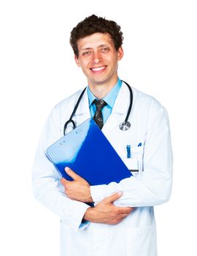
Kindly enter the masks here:
[[77, 175], [77, 173], [74, 173], [74, 171], [69, 167], [66, 167], [65, 171], [74, 179], [74, 181], [67, 181], [66, 178], [61, 178], [61, 184], [65, 187], [65, 194], [72, 200], [93, 202], [88, 182], [81, 176]]

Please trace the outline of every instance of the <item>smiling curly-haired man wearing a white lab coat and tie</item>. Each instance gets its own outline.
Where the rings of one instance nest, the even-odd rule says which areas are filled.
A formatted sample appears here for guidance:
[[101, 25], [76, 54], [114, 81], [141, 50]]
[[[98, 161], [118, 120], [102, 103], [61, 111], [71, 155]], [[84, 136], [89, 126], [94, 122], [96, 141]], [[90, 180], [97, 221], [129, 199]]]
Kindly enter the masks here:
[[[88, 79], [73, 119], [78, 126], [94, 118], [134, 172], [118, 184], [90, 186], [69, 167], [65, 171], [74, 181], [61, 178], [47, 159], [47, 147], [63, 136], [80, 91], [56, 105], [47, 119], [34, 163], [34, 195], [61, 217], [61, 256], [155, 256], [153, 206], [165, 203], [171, 193], [168, 115], [157, 100], [132, 88], [131, 128], [119, 129], [130, 94], [117, 76], [117, 63], [123, 58], [123, 34], [117, 23], [92, 15], [72, 30], [70, 42]], [[95, 207], [85, 202], [94, 202]]]

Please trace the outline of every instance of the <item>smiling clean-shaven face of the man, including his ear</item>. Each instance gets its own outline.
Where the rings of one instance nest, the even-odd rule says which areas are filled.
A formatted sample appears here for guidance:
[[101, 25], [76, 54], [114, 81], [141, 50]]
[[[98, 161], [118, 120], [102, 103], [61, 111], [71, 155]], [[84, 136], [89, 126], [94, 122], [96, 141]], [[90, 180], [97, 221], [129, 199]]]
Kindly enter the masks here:
[[89, 86], [117, 83], [117, 62], [123, 57], [123, 48], [115, 49], [109, 34], [95, 33], [77, 42], [79, 57], [75, 61], [88, 78]]

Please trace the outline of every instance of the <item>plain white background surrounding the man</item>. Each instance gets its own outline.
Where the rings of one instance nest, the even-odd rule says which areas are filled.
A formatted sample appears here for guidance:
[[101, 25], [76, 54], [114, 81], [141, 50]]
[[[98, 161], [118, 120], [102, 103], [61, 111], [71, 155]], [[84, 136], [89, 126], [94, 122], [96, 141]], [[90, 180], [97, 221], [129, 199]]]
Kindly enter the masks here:
[[34, 200], [31, 167], [53, 105], [86, 85], [69, 33], [95, 13], [120, 24], [120, 78], [169, 111], [174, 187], [155, 207], [158, 255], [196, 249], [196, 1], [3, 0], [0, 4], [0, 255], [58, 255], [59, 218]]

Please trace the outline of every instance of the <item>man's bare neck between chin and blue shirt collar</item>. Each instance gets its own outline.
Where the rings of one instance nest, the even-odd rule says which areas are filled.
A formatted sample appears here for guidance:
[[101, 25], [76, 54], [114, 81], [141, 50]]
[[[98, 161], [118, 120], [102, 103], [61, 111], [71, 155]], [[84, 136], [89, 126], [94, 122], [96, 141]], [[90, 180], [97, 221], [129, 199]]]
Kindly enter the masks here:
[[88, 83], [90, 91], [96, 96], [98, 99], [103, 99], [109, 91], [117, 84], [117, 79], [112, 83], [101, 83], [101, 84], [93, 84]]

